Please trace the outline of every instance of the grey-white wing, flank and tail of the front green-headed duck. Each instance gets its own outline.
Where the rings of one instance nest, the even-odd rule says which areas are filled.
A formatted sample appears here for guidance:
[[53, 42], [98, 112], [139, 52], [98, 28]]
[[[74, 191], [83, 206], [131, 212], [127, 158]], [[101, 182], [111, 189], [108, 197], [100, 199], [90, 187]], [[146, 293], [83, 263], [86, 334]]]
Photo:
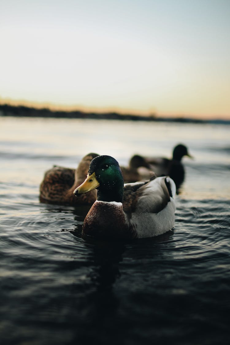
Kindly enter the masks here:
[[169, 177], [158, 177], [132, 191], [124, 198], [127, 222], [138, 237], [152, 237], [172, 229], [176, 206], [176, 187]]

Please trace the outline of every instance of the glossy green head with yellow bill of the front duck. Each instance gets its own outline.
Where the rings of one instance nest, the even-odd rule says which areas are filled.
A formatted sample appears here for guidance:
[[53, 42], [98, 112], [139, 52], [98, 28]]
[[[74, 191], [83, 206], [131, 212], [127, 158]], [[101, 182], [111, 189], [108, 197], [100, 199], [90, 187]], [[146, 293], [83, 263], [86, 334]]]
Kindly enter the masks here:
[[122, 202], [124, 180], [118, 162], [111, 156], [92, 159], [86, 180], [74, 190], [80, 195], [97, 189], [97, 200]]

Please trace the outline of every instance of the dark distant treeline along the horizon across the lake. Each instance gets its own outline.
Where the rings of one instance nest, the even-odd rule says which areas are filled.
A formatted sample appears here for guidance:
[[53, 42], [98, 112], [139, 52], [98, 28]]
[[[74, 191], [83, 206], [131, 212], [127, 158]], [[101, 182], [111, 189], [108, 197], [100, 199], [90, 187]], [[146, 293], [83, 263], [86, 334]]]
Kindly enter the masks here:
[[192, 122], [192, 123], [230, 123], [224, 120], [198, 120], [192, 118], [170, 118], [157, 117], [156, 115], [132, 115], [119, 114], [117, 112], [84, 112], [79, 110], [62, 111], [48, 108], [32, 108], [26, 106], [0, 105], [0, 116], [17, 117], [47, 117], [47, 118], [72, 118], [72, 119], [103, 119], [103, 120], [132, 120], [132, 121], [170, 121], [170, 122]]

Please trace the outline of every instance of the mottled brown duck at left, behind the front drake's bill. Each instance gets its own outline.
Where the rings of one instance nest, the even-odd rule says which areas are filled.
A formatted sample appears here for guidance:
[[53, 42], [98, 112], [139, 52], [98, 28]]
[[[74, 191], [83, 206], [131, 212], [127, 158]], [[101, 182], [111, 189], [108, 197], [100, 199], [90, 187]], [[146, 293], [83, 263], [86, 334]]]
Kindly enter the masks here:
[[40, 185], [40, 201], [59, 205], [93, 204], [97, 198], [96, 190], [92, 190], [80, 198], [76, 198], [73, 191], [85, 180], [90, 162], [97, 156], [95, 153], [84, 156], [77, 169], [53, 166], [46, 171]]

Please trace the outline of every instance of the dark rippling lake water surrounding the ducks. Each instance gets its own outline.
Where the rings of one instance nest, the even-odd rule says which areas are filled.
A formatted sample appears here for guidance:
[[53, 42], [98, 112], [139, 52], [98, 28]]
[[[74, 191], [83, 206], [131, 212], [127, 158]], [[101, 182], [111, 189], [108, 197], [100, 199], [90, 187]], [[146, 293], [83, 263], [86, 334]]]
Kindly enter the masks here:
[[[227, 344], [228, 125], [0, 118], [2, 344]], [[88, 152], [127, 165], [183, 142], [173, 231], [131, 243], [83, 240], [88, 206], [40, 204], [52, 164]]]

